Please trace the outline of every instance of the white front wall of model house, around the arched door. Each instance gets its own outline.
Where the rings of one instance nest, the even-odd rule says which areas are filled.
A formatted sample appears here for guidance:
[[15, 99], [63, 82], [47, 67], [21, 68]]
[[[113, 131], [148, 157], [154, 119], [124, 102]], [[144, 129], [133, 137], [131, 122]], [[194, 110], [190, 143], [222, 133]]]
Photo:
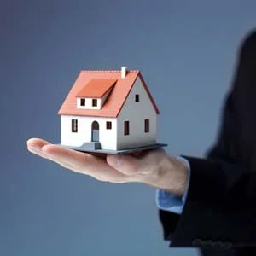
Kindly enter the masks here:
[[[78, 132], [72, 132], [72, 119], [78, 120]], [[99, 123], [99, 141], [102, 149], [117, 148], [117, 120], [115, 118], [80, 117], [71, 115], [61, 116], [61, 144], [79, 147], [86, 142], [91, 142], [91, 124]], [[106, 122], [112, 122], [112, 129], [107, 130]]]

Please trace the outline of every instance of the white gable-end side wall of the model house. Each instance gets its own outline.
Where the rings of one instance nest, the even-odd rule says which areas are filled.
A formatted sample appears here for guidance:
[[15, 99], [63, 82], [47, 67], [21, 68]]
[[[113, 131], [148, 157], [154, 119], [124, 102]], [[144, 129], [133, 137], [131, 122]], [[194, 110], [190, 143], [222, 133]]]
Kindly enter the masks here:
[[[135, 95], [139, 102], [135, 102]], [[149, 119], [149, 132], [144, 132], [144, 119]], [[124, 121], [129, 121], [129, 135], [124, 135]], [[117, 119], [118, 141], [117, 148], [133, 148], [156, 143], [157, 113], [150, 101], [141, 79], [137, 78], [131, 93]]]

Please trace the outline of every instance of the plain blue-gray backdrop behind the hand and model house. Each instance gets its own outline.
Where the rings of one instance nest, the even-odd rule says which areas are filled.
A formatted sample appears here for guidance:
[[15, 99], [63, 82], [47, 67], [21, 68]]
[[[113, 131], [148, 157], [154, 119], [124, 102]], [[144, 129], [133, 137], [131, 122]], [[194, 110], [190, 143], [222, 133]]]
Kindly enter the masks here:
[[67, 172], [29, 154], [26, 140], [60, 142], [56, 113], [80, 69], [124, 65], [143, 72], [168, 152], [204, 154], [255, 9], [253, 0], [2, 0], [0, 254], [169, 255], [154, 189]]

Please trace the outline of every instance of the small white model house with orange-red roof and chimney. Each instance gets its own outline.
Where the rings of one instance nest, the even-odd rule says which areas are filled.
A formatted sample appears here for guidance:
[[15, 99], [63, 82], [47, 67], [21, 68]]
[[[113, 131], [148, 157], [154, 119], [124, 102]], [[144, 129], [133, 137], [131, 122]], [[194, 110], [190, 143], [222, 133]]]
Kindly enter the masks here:
[[120, 150], [156, 143], [153, 97], [139, 71], [79, 73], [61, 109], [61, 145]]

